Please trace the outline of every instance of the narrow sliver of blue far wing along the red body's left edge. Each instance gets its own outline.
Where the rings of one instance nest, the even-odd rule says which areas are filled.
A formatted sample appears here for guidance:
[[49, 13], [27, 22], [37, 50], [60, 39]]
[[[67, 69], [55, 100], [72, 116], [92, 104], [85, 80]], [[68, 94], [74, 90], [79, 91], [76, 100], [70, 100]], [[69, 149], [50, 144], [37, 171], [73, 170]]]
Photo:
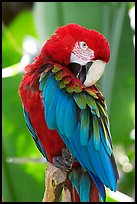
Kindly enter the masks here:
[[45, 152], [44, 148], [42, 147], [42, 144], [41, 144], [37, 134], [35, 133], [35, 131], [34, 131], [33, 127], [32, 127], [28, 112], [25, 110], [25, 108], [23, 108], [23, 111], [24, 111], [24, 117], [25, 117], [26, 125], [27, 125], [29, 131], [31, 132], [32, 138], [34, 139], [39, 151], [42, 153], [42, 155], [45, 158], [47, 158], [46, 157], [46, 152]]

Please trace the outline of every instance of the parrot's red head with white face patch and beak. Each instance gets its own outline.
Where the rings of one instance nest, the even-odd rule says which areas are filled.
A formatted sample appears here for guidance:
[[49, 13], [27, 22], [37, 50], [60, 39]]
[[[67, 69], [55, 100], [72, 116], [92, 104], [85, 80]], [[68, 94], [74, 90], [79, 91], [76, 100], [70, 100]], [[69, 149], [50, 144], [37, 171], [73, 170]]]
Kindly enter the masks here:
[[41, 53], [67, 66], [88, 87], [102, 76], [110, 59], [110, 46], [101, 33], [78, 24], [67, 24], [55, 31]]

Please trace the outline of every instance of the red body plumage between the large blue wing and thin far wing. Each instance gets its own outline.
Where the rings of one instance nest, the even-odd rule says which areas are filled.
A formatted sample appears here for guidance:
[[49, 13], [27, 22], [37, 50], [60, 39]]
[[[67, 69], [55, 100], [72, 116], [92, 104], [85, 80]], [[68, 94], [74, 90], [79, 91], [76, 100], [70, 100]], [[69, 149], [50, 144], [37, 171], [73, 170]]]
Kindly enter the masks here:
[[29, 113], [31, 124], [46, 151], [47, 158], [53, 163], [53, 157], [61, 155], [65, 144], [56, 130], [48, 129], [44, 117], [41, 92], [36, 86], [29, 88], [29, 81], [32, 81], [32, 76], [25, 76], [20, 85], [19, 94], [25, 110]]

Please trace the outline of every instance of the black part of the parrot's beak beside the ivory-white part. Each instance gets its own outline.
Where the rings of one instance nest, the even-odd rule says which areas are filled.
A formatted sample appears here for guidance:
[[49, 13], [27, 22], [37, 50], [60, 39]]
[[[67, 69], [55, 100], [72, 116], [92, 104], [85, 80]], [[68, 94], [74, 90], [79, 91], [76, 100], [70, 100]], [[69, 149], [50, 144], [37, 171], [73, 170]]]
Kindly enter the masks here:
[[86, 75], [92, 63], [93, 62], [88, 62], [87, 64], [82, 66], [74, 62], [69, 64], [69, 68], [74, 74], [74, 76], [77, 77], [82, 83], [84, 83], [84, 81], [86, 80]]

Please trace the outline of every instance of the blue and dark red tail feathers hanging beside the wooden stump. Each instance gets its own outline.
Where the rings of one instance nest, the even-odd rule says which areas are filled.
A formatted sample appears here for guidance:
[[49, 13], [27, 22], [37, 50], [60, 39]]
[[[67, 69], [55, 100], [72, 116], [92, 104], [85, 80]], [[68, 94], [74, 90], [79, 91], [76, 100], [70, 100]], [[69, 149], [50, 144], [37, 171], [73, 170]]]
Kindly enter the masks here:
[[72, 202], [100, 202], [99, 191], [87, 172], [73, 170], [65, 185], [71, 193]]

